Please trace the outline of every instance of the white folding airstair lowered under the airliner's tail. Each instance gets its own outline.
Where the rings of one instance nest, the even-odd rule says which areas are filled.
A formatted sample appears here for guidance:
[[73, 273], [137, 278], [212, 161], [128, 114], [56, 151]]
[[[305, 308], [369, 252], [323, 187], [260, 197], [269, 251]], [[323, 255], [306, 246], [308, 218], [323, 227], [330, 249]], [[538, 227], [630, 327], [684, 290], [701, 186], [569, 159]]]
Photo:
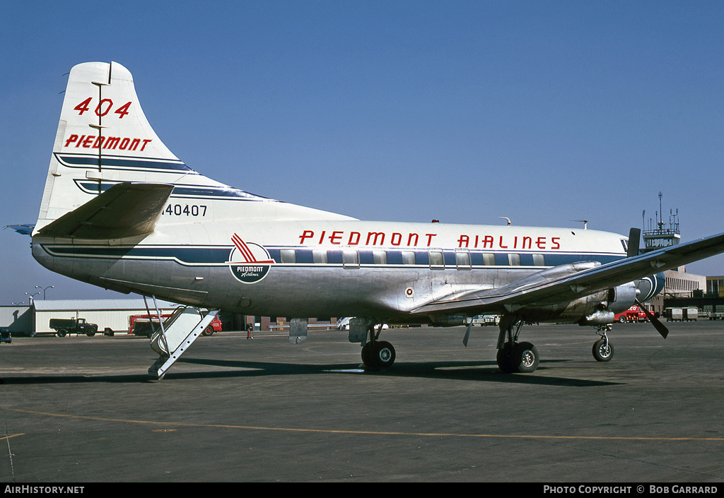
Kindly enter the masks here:
[[159, 359], [148, 368], [148, 375], [154, 379], [163, 379], [168, 369], [178, 360], [193, 342], [201, 337], [218, 310], [204, 315], [197, 308], [179, 306], [169, 318], [161, 322], [161, 327], [151, 336], [151, 348], [159, 353]]

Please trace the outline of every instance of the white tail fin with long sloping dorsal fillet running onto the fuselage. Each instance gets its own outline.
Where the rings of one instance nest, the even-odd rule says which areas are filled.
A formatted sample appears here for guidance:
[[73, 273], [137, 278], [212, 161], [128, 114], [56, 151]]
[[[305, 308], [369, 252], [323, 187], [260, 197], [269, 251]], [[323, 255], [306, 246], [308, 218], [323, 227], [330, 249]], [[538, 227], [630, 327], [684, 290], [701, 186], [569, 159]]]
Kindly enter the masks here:
[[[125, 67], [117, 62], [78, 64], [68, 78], [33, 234], [42, 233], [43, 227], [121, 183], [173, 185], [173, 201], [166, 208], [159, 206], [169, 214], [159, 221], [166, 224], [220, 219], [350, 219], [262, 198], [198, 174], [174, 156], [153, 131]], [[123, 191], [124, 202], [132, 201], [132, 192]], [[153, 197], [153, 202], [165, 202], [158, 199]], [[57, 233], [60, 227], [63, 232], [74, 223], [85, 223], [81, 214], [88, 215], [79, 212], [46, 232]], [[96, 217], [101, 218], [115, 219]]]

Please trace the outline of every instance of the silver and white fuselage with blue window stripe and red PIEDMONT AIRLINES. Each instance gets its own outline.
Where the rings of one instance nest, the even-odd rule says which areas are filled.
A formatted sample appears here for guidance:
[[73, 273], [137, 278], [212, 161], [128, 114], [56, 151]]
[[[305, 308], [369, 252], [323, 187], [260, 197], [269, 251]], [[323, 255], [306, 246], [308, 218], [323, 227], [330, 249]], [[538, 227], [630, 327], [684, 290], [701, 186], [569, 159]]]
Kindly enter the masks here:
[[626, 256], [625, 240], [584, 229], [389, 221], [180, 224], [168, 216], [130, 245], [35, 237], [33, 256], [68, 277], [206, 308], [428, 321], [411, 311], [453, 291], [502, 287], [552, 266], [615, 261]]

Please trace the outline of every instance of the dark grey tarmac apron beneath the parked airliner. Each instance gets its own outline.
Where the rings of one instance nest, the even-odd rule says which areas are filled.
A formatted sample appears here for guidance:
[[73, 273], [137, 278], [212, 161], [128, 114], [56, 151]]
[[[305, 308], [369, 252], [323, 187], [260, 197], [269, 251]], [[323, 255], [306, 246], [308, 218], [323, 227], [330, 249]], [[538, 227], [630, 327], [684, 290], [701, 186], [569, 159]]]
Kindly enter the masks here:
[[497, 327], [390, 329], [392, 368], [346, 332], [201, 337], [161, 381], [147, 339], [0, 345], [0, 480], [514, 481], [724, 478], [724, 322], [523, 328], [538, 370], [504, 374]]

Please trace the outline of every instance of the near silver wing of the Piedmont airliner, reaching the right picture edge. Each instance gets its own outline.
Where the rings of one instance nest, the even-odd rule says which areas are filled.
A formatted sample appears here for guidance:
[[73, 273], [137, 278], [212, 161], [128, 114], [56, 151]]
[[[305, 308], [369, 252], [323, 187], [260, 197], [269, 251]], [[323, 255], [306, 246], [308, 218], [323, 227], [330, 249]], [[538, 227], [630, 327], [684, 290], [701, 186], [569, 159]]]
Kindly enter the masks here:
[[570, 302], [660, 271], [715, 256], [723, 251], [724, 233], [622, 258], [605, 265], [592, 262], [563, 265], [540, 271], [497, 289], [451, 293], [416, 308], [413, 313], [458, 312], [478, 315], [500, 311], [501, 308], [514, 311], [533, 303]]

